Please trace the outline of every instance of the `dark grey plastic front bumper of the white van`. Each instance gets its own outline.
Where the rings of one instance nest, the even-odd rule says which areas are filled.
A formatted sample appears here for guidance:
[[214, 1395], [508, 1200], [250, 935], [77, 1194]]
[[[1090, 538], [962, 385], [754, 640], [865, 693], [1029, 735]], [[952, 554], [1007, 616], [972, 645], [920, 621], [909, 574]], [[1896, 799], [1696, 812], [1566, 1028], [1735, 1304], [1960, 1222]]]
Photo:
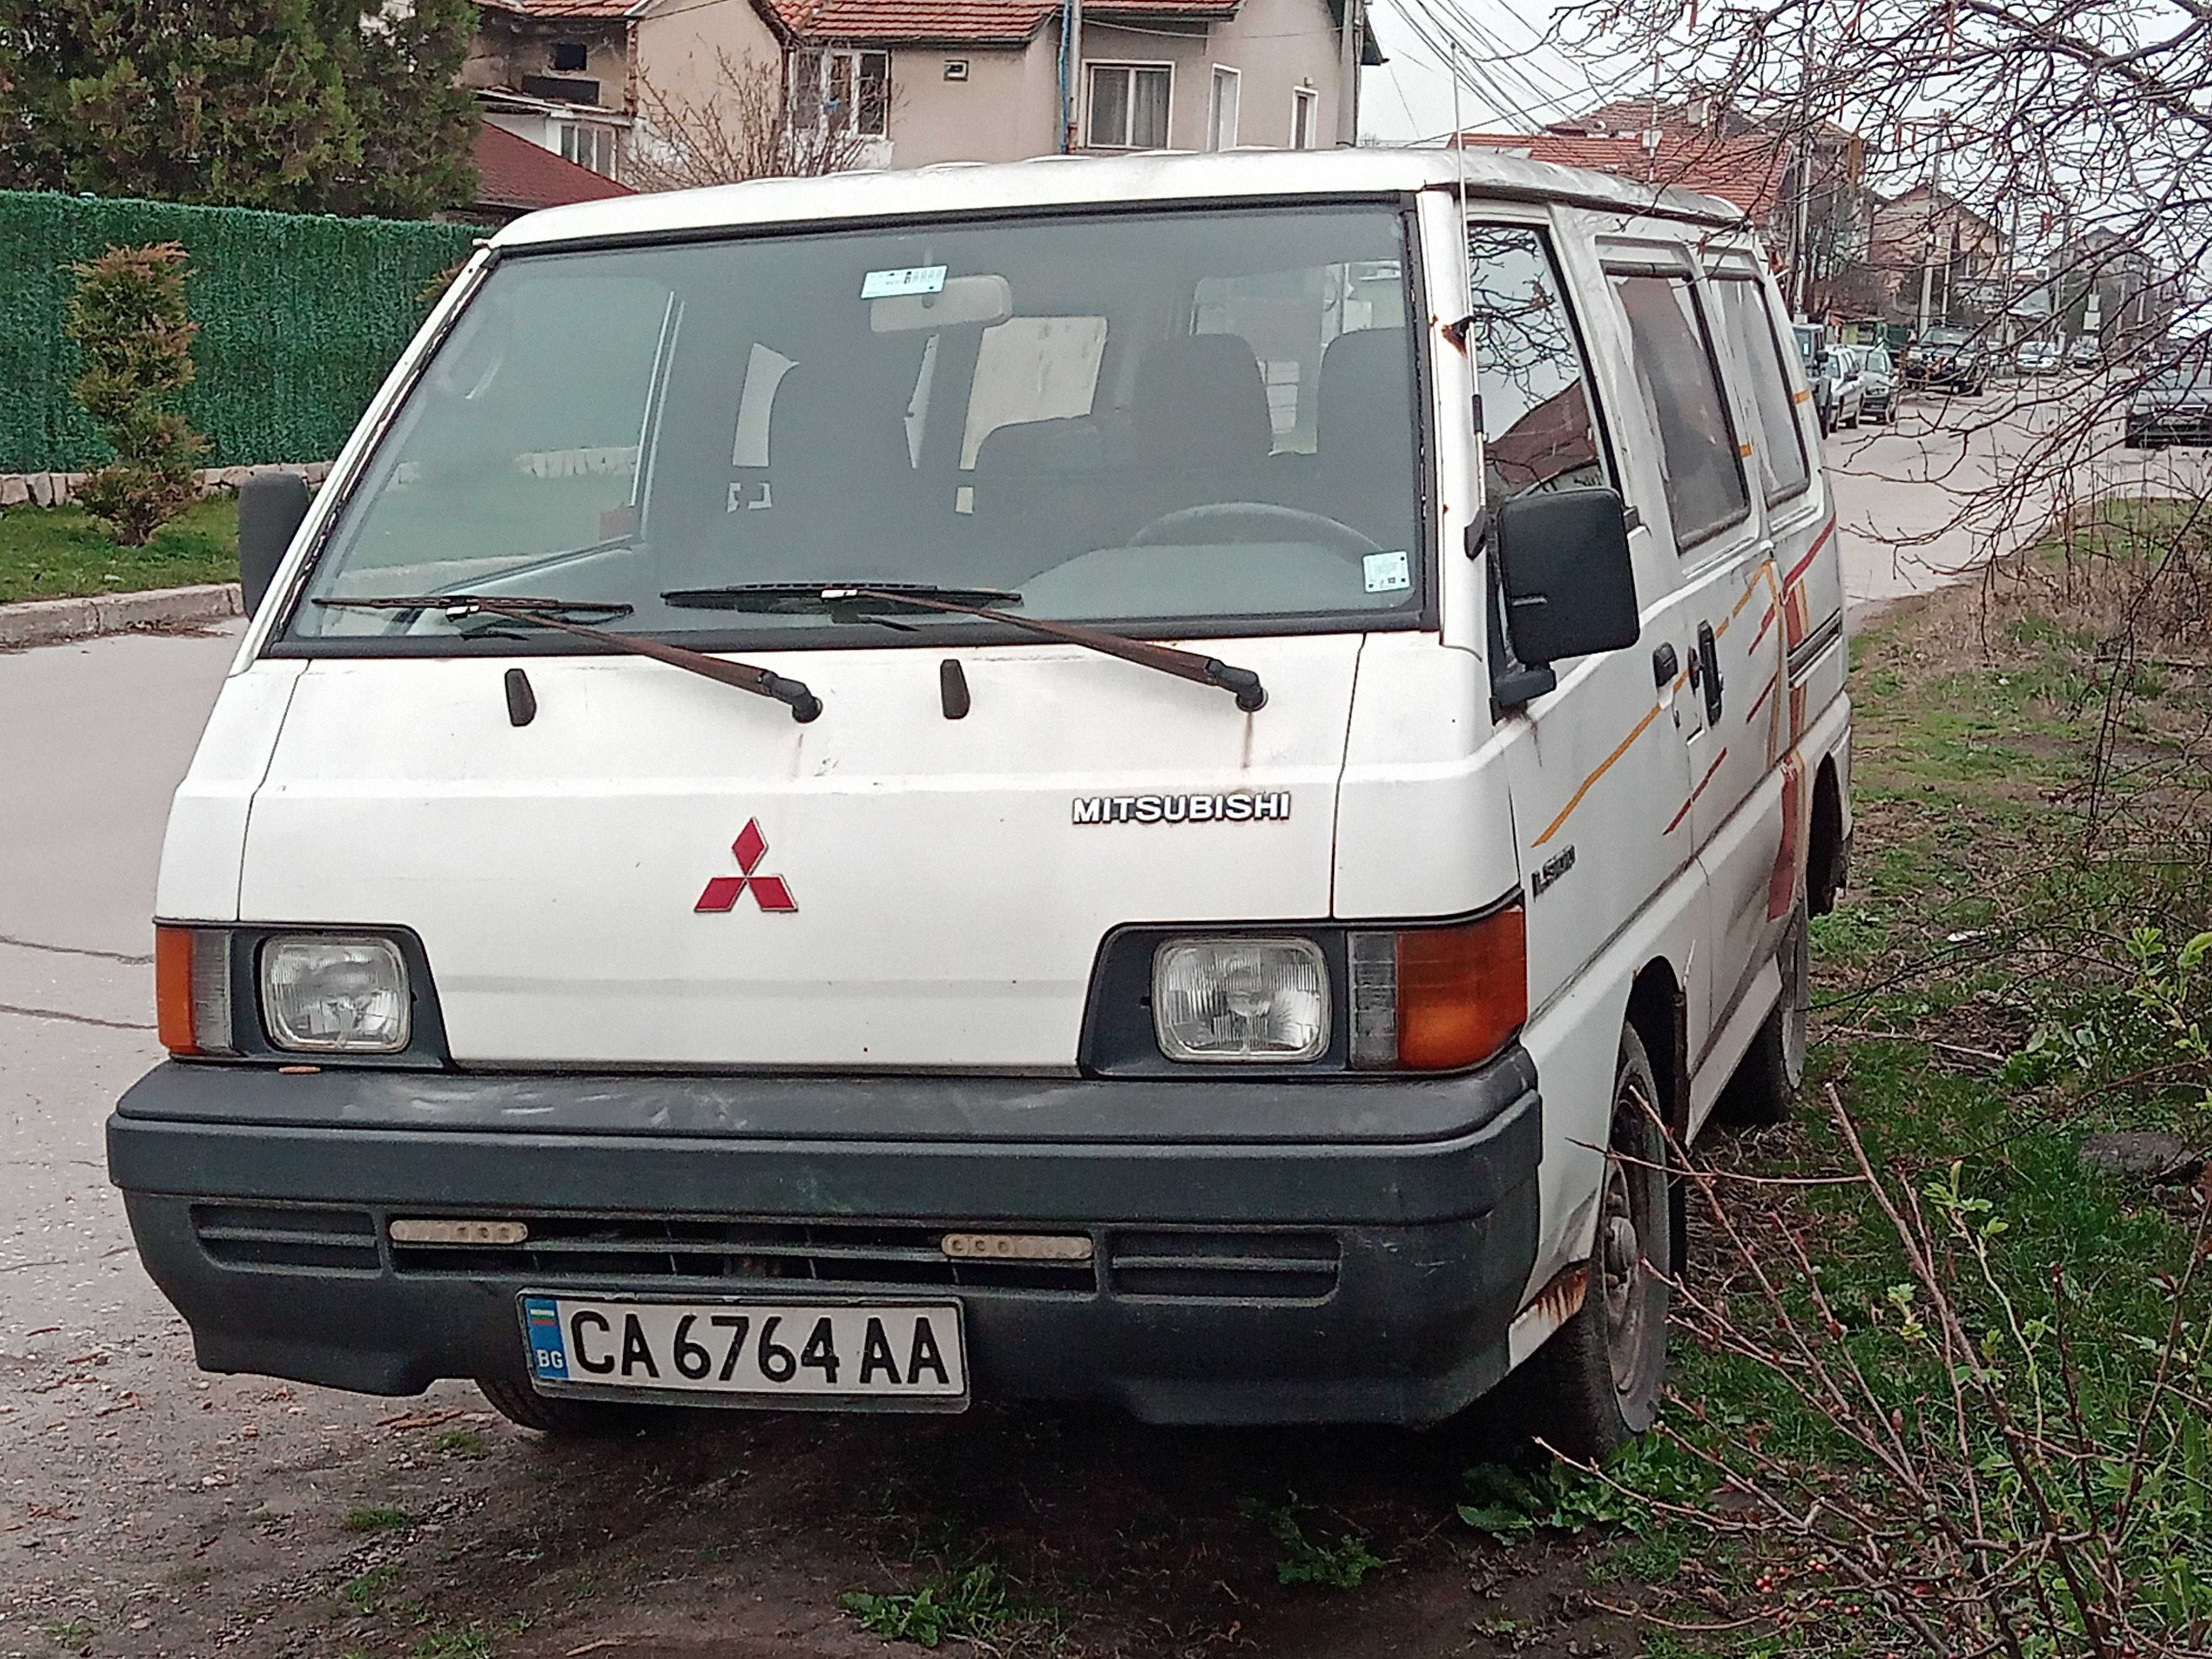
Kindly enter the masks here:
[[[1453, 1077], [553, 1077], [164, 1064], [108, 1172], [210, 1371], [515, 1378], [524, 1287], [964, 1307], [973, 1391], [1152, 1422], [1433, 1422], [1506, 1371], [1542, 1097]], [[522, 1219], [518, 1248], [396, 1245]], [[1088, 1263], [953, 1261], [951, 1230]]]

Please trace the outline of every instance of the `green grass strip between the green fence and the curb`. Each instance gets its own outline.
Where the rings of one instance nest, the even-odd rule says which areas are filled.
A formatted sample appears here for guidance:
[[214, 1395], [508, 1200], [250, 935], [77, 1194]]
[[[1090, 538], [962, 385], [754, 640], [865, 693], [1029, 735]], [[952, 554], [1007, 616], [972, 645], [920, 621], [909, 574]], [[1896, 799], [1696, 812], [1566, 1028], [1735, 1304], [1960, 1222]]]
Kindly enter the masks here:
[[234, 495], [192, 502], [146, 546], [115, 546], [77, 507], [0, 507], [0, 604], [237, 580]]

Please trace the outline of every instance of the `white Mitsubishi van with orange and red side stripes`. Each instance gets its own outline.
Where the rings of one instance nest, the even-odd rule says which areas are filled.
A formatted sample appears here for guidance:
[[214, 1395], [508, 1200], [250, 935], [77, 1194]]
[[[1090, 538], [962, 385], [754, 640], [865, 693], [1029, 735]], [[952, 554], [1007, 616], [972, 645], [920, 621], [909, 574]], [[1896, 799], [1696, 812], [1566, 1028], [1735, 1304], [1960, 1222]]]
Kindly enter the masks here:
[[1462, 166], [495, 234], [241, 504], [108, 1124], [199, 1363], [1641, 1429], [1661, 1124], [1787, 1108], [1845, 878], [1834, 515], [1732, 208]]

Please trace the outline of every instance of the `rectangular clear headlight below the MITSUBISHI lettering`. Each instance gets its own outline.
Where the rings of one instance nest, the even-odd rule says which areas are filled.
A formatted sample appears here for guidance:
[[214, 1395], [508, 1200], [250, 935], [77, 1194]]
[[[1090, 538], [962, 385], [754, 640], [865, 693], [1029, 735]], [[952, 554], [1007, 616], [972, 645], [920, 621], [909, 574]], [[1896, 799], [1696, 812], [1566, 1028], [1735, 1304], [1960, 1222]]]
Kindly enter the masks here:
[[1152, 958], [1152, 1029], [1168, 1060], [1318, 1060], [1329, 971], [1303, 938], [1181, 938]]

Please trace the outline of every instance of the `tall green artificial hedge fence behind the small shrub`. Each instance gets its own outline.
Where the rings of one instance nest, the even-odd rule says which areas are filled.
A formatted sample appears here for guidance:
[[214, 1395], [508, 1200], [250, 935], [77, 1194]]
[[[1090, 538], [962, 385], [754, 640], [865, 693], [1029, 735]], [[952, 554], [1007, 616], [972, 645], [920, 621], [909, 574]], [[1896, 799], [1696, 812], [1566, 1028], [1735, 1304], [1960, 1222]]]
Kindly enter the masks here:
[[0, 190], [0, 473], [84, 471], [111, 451], [69, 387], [71, 265], [181, 241], [199, 323], [186, 414], [208, 467], [330, 460], [422, 321], [422, 288], [482, 232], [173, 201]]

